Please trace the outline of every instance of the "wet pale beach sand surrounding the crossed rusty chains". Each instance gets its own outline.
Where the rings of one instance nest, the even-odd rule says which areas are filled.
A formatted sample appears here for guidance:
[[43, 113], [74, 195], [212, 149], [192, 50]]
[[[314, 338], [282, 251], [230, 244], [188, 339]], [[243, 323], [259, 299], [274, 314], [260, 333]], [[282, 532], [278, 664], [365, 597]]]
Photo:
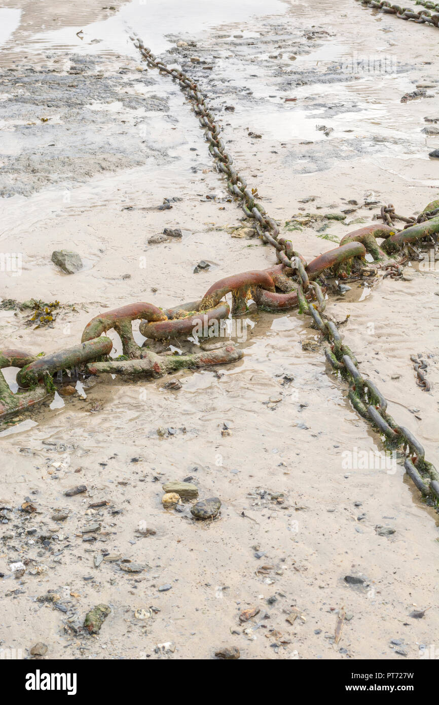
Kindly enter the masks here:
[[[76, 306], [54, 329], [38, 330], [3, 310], [2, 342], [51, 353], [77, 343], [105, 308], [177, 305], [223, 276], [275, 261], [259, 240], [231, 237], [242, 212], [227, 200], [178, 87], [137, 70], [144, 64], [126, 34], [134, 19], [145, 41], [156, 27], [152, 49], [187, 68], [211, 96], [235, 164], [275, 219], [285, 226], [297, 214], [340, 214], [357, 200], [346, 223], [323, 219], [292, 232], [308, 260], [361, 227], [351, 221], [371, 222], [378, 206], [365, 200], [414, 214], [438, 197], [437, 160], [427, 156], [438, 137], [422, 132], [430, 124], [423, 118], [438, 115], [431, 27], [347, 0], [319, 4], [320, 17], [306, 5], [273, 2], [265, 13], [258, 7], [254, 17], [230, 20], [224, 6], [211, 23], [199, 13], [192, 27], [166, 20], [165, 3], [156, 25], [132, 4], [104, 14], [87, 4], [85, 16], [70, 3], [68, 18], [66, 4], [56, 13], [50, 5], [53, 31], [30, 4], [6, 3], [23, 8], [24, 20], [4, 46], [1, 71], [0, 239], [2, 252], [23, 252], [23, 271], [1, 272], [0, 293]], [[181, 40], [194, 44], [177, 47]], [[390, 73], [352, 71], [358, 57], [369, 61], [371, 45], [373, 56], [390, 57]], [[417, 85], [431, 86], [426, 97], [401, 103]], [[328, 137], [316, 130], [322, 124], [333, 128]], [[154, 209], [170, 197], [183, 200]], [[302, 203], [308, 197], [315, 200]], [[328, 227], [319, 233], [321, 224]], [[147, 243], [166, 227], [182, 228], [182, 240]], [[61, 274], [50, 260], [61, 248], [79, 252], [85, 269]], [[193, 274], [200, 259], [211, 270]], [[438, 270], [415, 264], [405, 274], [408, 281], [387, 278], [370, 293], [351, 284], [327, 310], [338, 321], [350, 314], [342, 332], [361, 371], [438, 466]], [[11, 511], [1, 525], [2, 648], [27, 657], [41, 641], [46, 658], [205, 659], [233, 644], [249, 659], [404, 659], [397, 651], [419, 658], [422, 645], [435, 643], [437, 515], [401, 465], [357, 462], [383, 446], [327, 374], [322, 351], [302, 350], [316, 338], [309, 321], [254, 310], [248, 319], [240, 362], [155, 381], [102, 376], [86, 398], [58, 397], [52, 409], [49, 398], [3, 431], [0, 499]], [[429, 393], [416, 386], [413, 353], [429, 356]], [[169, 379], [182, 388], [164, 389]], [[163, 510], [161, 485], [186, 477], [200, 498], [221, 498], [220, 517], [196, 522], [187, 504], [182, 513]], [[63, 495], [78, 484], [85, 494]], [[27, 497], [36, 513], [18, 510]], [[103, 500], [109, 505], [89, 508]], [[55, 508], [70, 510], [61, 525], [51, 518]], [[96, 541], [83, 540], [90, 524], [100, 524]], [[140, 535], [145, 525], [156, 534]], [[377, 526], [395, 533], [379, 536]], [[119, 560], [95, 568], [104, 554]], [[143, 572], [123, 572], [123, 558]], [[16, 579], [10, 565], [23, 559], [30, 560]], [[39, 565], [41, 574], [32, 574]], [[364, 584], [352, 587], [345, 575]], [[171, 589], [159, 591], [164, 584]], [[66, 611], [37, 601], [47, 591]], [[102, 602], [111, 615], [99, 636], [84, 635], [85, 614]], [[253, 606], [256, 618], [240, 623], [242, 609]], [[291, 624], [294, 606], [304, 618]], [[342, 607], [350, 619], [335, 644]], [[139, 608], [152, 608], [147, 620], [135, 616]], [[409, 617], [425, 608], [424, 618]], [[157, 654], [163, 642], [175, 651]]]

